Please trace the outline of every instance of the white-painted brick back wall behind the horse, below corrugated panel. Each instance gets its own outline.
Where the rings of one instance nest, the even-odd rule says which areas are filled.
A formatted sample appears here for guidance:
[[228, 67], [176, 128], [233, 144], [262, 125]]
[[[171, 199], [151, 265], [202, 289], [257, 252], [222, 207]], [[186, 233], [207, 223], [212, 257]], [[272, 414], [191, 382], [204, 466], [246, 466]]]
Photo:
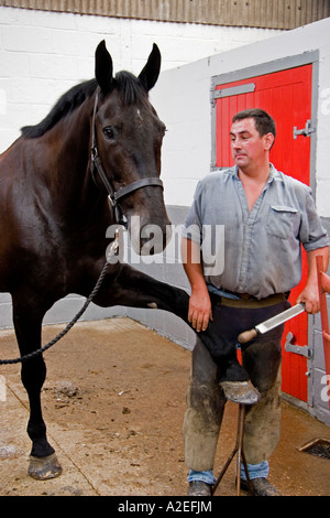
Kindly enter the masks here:
[[70, 86], [94, 76], [94, 53], [102, 39], [114, 69], [138, 74], [153, 42], [165, 71], [277, 32], [0, 7], [0, 152]]

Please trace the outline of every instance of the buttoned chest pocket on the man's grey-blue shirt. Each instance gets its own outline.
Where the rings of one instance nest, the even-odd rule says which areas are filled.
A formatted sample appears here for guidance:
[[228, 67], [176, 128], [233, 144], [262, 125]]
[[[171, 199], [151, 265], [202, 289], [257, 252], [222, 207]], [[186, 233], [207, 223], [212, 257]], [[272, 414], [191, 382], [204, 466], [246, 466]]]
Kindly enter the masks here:
[[271, 205], [266, 230], [272, 236], [287, 239], [296, 237], [299, 228], [299, 214], [295, 207], [284, 205]]

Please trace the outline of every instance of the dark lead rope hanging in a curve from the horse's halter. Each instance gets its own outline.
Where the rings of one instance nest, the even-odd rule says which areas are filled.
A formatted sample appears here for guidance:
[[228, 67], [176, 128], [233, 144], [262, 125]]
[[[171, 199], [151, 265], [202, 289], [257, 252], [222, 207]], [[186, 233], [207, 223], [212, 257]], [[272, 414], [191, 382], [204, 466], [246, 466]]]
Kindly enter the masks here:
[[12, 365], [12, 364], [19, 364], [19, 363], [23, 363], [28, 359], [31, 359], [31, 358], [34, 358], [35, 356], [44, 353], [45, 350], [50, 349], [53, 345], [55, 345], [61, 338], [63, 338], [63, 336], [65, 336], [69, 331], [70, 328], [76, 324], [76, 322], [80, 319], [80, 316], [85, 313], [85, 311], [87, 310], [88, 305], [90, 304], [90, 302], [92, 301], [92, 299], [96, 296], [97, 292], [99, 291], [102, 282], [103, 282], [103, 279], [107, 274], [107, 270], [108, 270], [108, 266], [110, 263], [110, 260], [113, 256], [118, 255], [118, 250], [119, 250], [119, 233], [118, 230], [116, 231], [116, 238], [114, 240], [112, 241], [112, 244], [110, 245], [110, 248], [109, 248], [109, 251], [107, 252], [107, 262], [106, 265], [103, 266], [103, 269], [97, 280], [97, 283], [94, 288], [94, 290], [91, 291], [90, 295], [86, 299], [86, 302], [85, 304], [82, 305], [82, 307], [80, 309], [80, 311], [78, 311], [78, 313], [76, 314], [76, 316], [74, 316], [74, 319], [67, 324], [67, 326], [61, 332], [58, 333], [58, 335], [56, 335], [51, 342], [48, 342], [46, 345], [44, 345], [43, 347], [41, 347], [40, 349], [36, 349], [34, 350], [33, 353], [30, 353], [30, 354], [26, 354], [24, 356], [21, 356], [20, 358], [14, 358], [14, 359], [0, 359], [0, 365]]

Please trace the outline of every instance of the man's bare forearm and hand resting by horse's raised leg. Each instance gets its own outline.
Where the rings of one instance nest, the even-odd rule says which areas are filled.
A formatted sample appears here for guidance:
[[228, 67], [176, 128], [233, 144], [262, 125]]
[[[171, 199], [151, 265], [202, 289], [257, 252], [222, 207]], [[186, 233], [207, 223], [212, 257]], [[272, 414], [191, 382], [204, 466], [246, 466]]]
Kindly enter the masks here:
[[190, 239], [182, 238], [182, 259], [191, 287], [188, 322], [197, 332], [206, 331], [209, 320], [212, 320], [212, 311], [202, 272], [200, 247]]

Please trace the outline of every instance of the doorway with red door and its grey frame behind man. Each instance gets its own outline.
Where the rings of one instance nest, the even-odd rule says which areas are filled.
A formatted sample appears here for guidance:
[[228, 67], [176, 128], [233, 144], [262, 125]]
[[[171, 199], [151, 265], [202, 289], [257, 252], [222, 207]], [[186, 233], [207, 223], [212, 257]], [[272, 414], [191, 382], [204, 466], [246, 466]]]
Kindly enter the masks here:
[[[212, 78], [212, 170], [234, 165], [230, 150], [231, 119], [246, 108], [262, 108], [276, 121], [271, 162], [284, 173], [315, 186], [316, 94], [318, 53], [295, 56]], [[302, 250], [302, 277], [290, 293], [295, 304], [307, 280]], [[283, 335], [284, 392], [308, 400], [308, 316], [285, 325]], [[301, 346], [301, 347], [296, 347]]]

